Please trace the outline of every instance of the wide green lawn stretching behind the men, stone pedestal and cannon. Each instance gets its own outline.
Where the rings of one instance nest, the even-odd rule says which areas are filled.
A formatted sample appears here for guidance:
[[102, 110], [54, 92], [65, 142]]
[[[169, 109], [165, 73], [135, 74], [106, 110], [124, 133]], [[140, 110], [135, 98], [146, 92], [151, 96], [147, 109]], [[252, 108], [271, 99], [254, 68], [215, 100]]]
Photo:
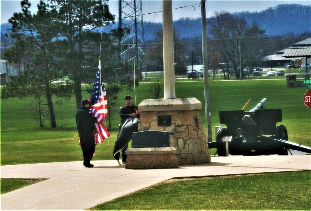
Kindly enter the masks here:
[[[144, 99], [153, 98], [148, 91], [151, 85], [152, 83], [140, 83], [136, 88], [137, 105]], [[202, 102], [200, 115], [205, 128], [202, 80], [176, 80], [175, 87], [177, 98], [196, 97]], [[220, 110], [241, 110], [245, 103], [252, 99], [244, 109], [250, 110], [262, 98], [267, 97], [266, 109], [282, 109], [283, 121], [280, 124], [286, 126], [289, 141], [311, 146], [311, 110], [303, 102], [306, 88], [287, 88], [286, 80], [277, 79], [232, 80], [210, 81], [209, 91], [213, 140], [214, 127], [220, 125]], [[119, 95], [120, 106], [125, 104], [126, 95], [135, 96], [134, 92], [123, 91]], [[84, 91], [82, 97], [89, 98], [90, 94]], [[30, 102], [30, 98], [9, 98], [1, 101], [1, 165], [82, 160], [78, 139], [73, 140], [77, 134], [75, 99], [63, 100], [61, 105], [54, 103], [56, 123], [62, 125], [57, 128], [49, 128], [48, 119], [45, 119], [45, 127], [39, 128], [36, 114], [29, 111]], [[105, 142], [97, 144], [94, 160], [113, 159], [112, 148], [120, 122], [118, 109], [119, 106], [115, 106], [112, 110], [112, 127], [108, 128], [111, 136]], [[213, 150], [211, 149], [211, 155], [215, 153]]]

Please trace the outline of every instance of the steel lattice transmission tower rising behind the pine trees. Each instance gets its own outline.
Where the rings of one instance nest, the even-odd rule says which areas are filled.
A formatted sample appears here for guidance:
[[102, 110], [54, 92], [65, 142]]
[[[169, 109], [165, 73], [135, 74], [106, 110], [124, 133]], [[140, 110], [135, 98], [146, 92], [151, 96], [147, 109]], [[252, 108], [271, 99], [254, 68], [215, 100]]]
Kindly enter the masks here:
[[142, 1], [119, 0], [118, 27], [128, 28], [130, 33], [119, 40], [121, 59], [135, 65], [135, 70], [141, 75], [144, 64], [144, 25], [142, 19]]

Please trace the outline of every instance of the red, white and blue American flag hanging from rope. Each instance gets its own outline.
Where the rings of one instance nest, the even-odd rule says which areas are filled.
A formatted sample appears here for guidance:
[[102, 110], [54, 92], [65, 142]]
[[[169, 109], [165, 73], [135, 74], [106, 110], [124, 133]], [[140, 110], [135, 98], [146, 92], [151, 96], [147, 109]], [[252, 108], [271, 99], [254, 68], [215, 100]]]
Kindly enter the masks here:
[[103, 142], [105, 138], [108, 138], [110, 134], [103, 124], [104, 118], [107, 117], [107, 96], [103, 77], [100, 77], [99, 68], [97, 69], [90, 102], [93, 105], [91, 112], [97, 119], [94, 138], [96, 143], [100, 143]]

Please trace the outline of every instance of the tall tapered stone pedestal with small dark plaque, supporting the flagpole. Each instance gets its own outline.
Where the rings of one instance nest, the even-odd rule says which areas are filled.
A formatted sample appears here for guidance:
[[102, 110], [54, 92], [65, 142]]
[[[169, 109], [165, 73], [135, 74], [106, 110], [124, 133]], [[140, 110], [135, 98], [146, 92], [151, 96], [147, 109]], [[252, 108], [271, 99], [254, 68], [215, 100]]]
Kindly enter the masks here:
[[179, 165], [211, 162], [196, 98], [150, 99], [138, 105], [142, 112], [138, 131], [169, 132], [169, 146], [176, 149]]

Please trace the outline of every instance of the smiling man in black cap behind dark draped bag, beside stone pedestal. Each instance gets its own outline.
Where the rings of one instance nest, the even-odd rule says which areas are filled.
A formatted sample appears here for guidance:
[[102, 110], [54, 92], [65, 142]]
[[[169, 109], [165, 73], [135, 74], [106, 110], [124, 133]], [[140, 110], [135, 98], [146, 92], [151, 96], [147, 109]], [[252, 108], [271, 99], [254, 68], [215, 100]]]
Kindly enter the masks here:
[[[119, 114], [121, 117], [121, 125], [120, 125], [120, 129], [121, 126], [123, 125], [123, 123], [128, 119], [128, 118], [135, 118], [137, 117], [139, 119], [140, 117], [140, 112], [137, 109], [137, 106], [135, 106], [133, 104], [133, 99], [131, 96], [126, 96], [125, 97], [125, 106], [122, 106], [119, 110]], [[125, 151], [128, 149], [128, 145], [126, 145], [122, 150], [122, 164], [125, 164], [126, 162], [126, 157], [127, 155], [125, 155]]]

